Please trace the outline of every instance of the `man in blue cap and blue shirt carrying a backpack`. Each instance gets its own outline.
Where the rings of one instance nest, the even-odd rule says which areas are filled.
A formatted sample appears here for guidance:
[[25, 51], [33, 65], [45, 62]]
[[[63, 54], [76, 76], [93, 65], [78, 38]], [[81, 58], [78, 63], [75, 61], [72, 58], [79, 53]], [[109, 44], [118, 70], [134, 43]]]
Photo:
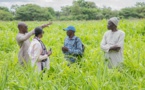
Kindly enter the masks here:
[[75, 63], [78, 57], [81, 57], [84, 51], [83, 44], [80, 38], [75, 36], [76, 29], [74, 26], [68, 26], [64, 29], [67, 32], [67, 37], [62, 47], [62, 52], [65, 54], [65, 58], [71, 63]]

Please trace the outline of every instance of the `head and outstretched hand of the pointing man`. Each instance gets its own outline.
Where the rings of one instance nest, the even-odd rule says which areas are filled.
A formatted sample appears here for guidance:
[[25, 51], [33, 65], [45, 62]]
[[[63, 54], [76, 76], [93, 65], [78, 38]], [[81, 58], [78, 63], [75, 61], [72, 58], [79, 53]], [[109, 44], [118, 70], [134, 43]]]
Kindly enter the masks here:
[[[52, 22], [50, 22], [48, 24], [44, 24], [40, 27], [45, 28], [45, 27], [48, 27], [51, 24], [52, 24]], [[28, 32], [28, 26], [24, 22], [18, 23], [18, 29], [19, 29], [19, 33], [22, 33], [22, 34], [25, 34], [25, 33]]]

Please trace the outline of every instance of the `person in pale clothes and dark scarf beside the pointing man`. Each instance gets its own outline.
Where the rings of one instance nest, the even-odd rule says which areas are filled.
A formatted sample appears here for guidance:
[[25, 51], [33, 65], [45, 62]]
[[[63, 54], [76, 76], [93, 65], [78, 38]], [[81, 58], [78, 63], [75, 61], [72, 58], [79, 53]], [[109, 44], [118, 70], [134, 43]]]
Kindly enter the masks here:
[[41, 27], [35, 28], [35, 37], [28, 49], [28, 54], [31, 59], [31, 65], [32, 67], [36, 66], [36, 70], [38, 70], [38, 72], [42, 70], [49, 70], [49, 56], [52, 53], [51, 50], [47, 51], [45, 45], [41, 41], [43, 33], [44, 32]]

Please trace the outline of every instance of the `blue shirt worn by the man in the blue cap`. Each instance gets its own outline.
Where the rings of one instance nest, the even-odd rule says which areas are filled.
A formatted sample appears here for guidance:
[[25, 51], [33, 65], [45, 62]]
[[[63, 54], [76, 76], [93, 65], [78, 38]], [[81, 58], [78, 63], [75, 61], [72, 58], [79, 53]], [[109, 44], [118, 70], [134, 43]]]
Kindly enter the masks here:
[[68, 48], [67, 52], [63, 52], [65, 54], [65, 58], [72, 63], [74, 63], [77, 59], [77, 57], [75, 57], [74, 55], [81, 55], [83, 53], [82, 42], [80, 38], [76, 36], [74, 36], [72, 39], [66, 37], [64, 46]]

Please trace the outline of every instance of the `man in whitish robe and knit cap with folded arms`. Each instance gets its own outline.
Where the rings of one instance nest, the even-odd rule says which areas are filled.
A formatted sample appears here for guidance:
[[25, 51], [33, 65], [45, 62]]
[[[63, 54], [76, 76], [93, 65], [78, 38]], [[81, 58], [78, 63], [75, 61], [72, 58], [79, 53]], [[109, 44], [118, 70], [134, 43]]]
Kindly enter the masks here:
[[119, 66], [123, 62], [123, 44], [125, 33], [117, 29], [118, 18], [112, 17], [108, 21], [108, 31], [103, 36], [101, 49], [105, 52], [108, 67]]

